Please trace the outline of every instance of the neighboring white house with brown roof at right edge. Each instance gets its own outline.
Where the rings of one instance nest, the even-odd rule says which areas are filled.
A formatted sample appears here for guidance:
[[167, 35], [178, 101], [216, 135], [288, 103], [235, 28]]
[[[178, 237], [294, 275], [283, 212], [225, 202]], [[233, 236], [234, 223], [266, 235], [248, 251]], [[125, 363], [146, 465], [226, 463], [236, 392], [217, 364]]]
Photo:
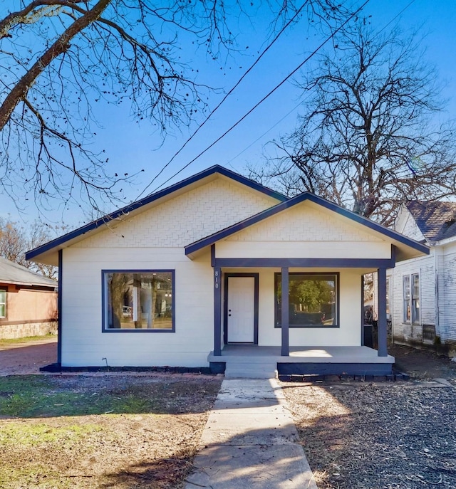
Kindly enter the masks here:
[[456, 202], [413, 201], [395, 230], [430, 246], [429, 256], [398, 263], [388, 273], [394, 341], [438, 346], [456, 355]]

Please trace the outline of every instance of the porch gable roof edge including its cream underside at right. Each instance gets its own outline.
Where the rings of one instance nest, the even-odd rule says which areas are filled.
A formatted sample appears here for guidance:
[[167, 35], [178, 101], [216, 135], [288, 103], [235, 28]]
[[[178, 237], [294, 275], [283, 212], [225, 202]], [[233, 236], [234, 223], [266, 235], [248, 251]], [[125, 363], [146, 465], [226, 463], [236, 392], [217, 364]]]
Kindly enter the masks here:
[[217, 241], [221, 241], [224, 238], [228, 238], [232, 236], [232, 234], [242, 231], [249, 226], [253, 226], [254, 224], [258, 224], [264, 219], [268, 219], [271, 216], [279, 214], [281, 212], [286, 211], [286, 209], [290, 209], [291, 207], [296, 206], [297, 204], [301, 204], [301, 202], [310, 201], [318, 206], [321, 206], [322, 209], [326, 209], [327, 211], [331, 211], [338, 219], [347, 219], [348, 222], [352, 224], [357, 224], [363, 226], [365, 231], [370, 232], [375, 235], [380, 235], [382, 239], [390, 242], [396, 248], [395, 260], [403, 261], [409, 258], [415, 258], [415, 256], [421, 256], [423, 254], [429, 254], [430, 248], [423, 243], [419, 243], [407, 236], [403, 236], [403, 234], [394, 231], [393, 229], [386, 228], [380, 224], [377, 224], [370, 219], [366, 219], [359, 214], [355, 214], [352, 211], [348, 211], [348, 209], [344, 209], [337, 204], [333, 204], [333, 202], [329, 202], [326, 199], [322, 199], [310, 192], [304, 192], [303, 194], [299, 194], [287, 201], [276, 204], [275, 206], [266, 209], [265, 211], [260, 212], [259, 214], [255, 214], [254, 216], [245, 219], [244, 221], [240, 221], [237, 224], [229, 226], [227, 228], [222, 229], [221, 231], [217, 231], [217, 233], [213, 233], [209, 236], [206, 236], [199, 241], [195, 241], [195, 243], [190, 243], [185, 246], [185, 254], [193, 259], [204, 248], [208, 246], [212, 246], [217, 243]]

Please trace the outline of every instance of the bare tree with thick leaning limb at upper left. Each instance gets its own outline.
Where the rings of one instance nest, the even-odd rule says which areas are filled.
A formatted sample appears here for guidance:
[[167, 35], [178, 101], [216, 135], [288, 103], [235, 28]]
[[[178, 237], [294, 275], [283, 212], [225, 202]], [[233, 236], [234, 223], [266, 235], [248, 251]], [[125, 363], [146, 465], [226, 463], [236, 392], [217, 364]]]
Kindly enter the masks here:
[[[7, 11], [15, 3], [17, 11]], [[0, 184], [4, 193], [38, 201], [110, 201], [131, 175], [112, 174], [95, 152], [99, 103], [128, 102], [136, 120], [163, 133], [204, 110], [196, 68], [182, 44], [204, 45], [216, 60], [234, 48], [228, 19], [255, 14], [240, 0], [21, 0], [0, 11]], [[303, 6], [271, 0], [276, 21]], [[333, 0], [306, 0], [314, 19], [333, 18]], [[262, 7], [261, 7], [262, 8]], [[303, 11], [303, 12], [304, 12]], [[1, 19], [1, 17], [3, 17]], [[188, 61], [190, 63], [191, 60]], [[92, 144], [92, 146], [90, 145]], [[19, 191], [18, 191], [19, 189]]]

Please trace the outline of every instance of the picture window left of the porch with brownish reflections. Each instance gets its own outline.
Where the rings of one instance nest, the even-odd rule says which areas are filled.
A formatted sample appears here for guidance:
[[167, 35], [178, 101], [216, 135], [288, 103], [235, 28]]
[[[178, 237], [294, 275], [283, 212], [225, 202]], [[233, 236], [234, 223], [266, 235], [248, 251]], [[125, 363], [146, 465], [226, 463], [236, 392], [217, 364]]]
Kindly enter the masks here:
[[174, 271], [104, 271], [103, 330], [174, 331]]

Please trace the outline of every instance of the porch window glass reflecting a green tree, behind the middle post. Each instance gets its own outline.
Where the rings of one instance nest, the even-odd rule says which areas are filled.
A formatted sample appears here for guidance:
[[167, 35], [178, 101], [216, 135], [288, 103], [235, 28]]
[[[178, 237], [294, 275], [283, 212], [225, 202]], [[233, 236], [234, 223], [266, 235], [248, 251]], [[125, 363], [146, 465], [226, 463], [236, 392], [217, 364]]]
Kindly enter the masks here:
[[[281, 327], [281, 273], [274, 297], [275, 327]], [[289, 274], [289, 326], [338, 327], [338, 273]]]

